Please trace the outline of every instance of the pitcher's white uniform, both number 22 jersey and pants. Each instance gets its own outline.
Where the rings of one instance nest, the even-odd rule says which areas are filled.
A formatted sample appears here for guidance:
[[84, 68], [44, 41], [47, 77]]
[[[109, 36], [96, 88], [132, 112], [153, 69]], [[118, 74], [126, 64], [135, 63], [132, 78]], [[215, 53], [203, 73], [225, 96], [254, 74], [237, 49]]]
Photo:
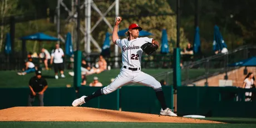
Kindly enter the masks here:
[[[102, 88], [101, 92], [105, 95], [117, 90], [128, 83], [140, 83], [141, 85], [154, 88], [155, 91], [161, 90], [161, 84], [154, 77], [142, 72], [140, 69], [142, 49], [146, 42], [152, 43], [152, 38], [141, 37], [134, 40], [118, 39], [116, 45], [122, 50], [122, 68], [119, 75], [109, 86]], [[125, 67], [124, 67], [125, 66]], [[129, 70], [129, 68], [137, 68]]]

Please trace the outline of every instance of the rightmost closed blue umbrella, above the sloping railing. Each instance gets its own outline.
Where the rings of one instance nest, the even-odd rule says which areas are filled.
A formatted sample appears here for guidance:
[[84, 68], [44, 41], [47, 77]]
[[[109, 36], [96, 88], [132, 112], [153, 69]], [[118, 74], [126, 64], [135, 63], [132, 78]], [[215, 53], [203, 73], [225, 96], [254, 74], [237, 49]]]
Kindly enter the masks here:
[[213, 51], [220, 51], [222, 48], [227, 48], [226, 43], [221, 36], [218, 26], [214, 26], [214, 37], [213, 37]]

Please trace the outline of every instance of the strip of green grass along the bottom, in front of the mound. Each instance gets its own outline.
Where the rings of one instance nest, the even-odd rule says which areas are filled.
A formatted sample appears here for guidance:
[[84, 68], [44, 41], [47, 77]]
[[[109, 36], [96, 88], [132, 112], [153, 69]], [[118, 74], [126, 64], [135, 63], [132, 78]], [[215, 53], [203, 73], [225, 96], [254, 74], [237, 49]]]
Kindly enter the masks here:
[[139, 122], [0, 122], [0, 127], [14, 128], [14, 127], [26, 127], [26, 128], [68, 128], [68, 127], [104, 127], [104, 128], [119, 128], [119, 127], [138, 127], [138, 128], [184, 128], [184, 127], [256, 127], [256, 124], [184, 124], [184, 123], [139, 123]]

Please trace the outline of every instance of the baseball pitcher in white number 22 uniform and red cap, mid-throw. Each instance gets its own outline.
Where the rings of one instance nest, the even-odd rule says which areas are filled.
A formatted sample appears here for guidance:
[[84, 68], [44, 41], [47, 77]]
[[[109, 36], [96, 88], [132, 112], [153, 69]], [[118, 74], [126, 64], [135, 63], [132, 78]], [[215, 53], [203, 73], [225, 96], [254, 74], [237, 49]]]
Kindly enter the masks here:
[[127, 38], [120, 40], [117, 35], [117, 28], [121, 21], [121, 17], [116, 17], [112, 33], [112, 42], [122, 50], [122, 68], [119, 75], [109, 86], [101, 88], [89, 96], [82, 96], [80, 99], [74, 100], [72, 106], [81, 106], [95, 97], [107, 95], [128, 83], [140, 83], [141, 85], [154, 88], [156, 97], [161, 104], [160, 115], [177, 116], [166, 106], [161, 84], [154, 77], [141, 71], [142, 52], [150, 55], [157, 50], [159, 42], [153, 38], [139, 37], [139, 32], [142, 28], [135, 23], [129, 26], [129, 30], [126, 32]]

